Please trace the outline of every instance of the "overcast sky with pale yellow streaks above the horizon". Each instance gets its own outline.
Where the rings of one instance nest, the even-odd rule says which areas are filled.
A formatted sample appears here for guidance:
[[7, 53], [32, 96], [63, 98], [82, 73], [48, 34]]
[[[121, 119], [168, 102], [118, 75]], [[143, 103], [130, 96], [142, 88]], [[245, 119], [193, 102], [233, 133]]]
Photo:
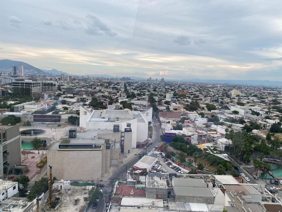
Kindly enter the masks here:
[[70, 74], [282, 80], [269, 1], [2, 1], [0, 59]]

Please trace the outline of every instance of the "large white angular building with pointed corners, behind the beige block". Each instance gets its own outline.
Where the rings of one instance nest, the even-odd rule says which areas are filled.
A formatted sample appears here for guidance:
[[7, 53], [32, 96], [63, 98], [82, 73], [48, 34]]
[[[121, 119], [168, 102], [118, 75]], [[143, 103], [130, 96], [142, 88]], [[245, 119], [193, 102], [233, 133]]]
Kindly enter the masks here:
[[124, 131], [132, 130], [132, 148], [148, 138], [148, 122], [152, 122], [152, 108], [140, 112], [124, 110], [93, 110], [80, 106], [80, 127], [83, 129], [101, 129]]

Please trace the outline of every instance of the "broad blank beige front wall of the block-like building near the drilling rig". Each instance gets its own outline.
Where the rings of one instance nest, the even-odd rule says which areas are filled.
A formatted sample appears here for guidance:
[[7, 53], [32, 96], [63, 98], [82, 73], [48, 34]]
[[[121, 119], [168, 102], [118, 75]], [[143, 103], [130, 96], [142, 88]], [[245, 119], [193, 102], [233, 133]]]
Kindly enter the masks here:
[[[85, 180], [101, 178], [102, 150], [47, 151], [47, 165], [53, 166], [52, 174], [58, 179]], [[48, 176], [49, 176], [49, 169]], [[104, 167], [105, 173], [105, 167]]]

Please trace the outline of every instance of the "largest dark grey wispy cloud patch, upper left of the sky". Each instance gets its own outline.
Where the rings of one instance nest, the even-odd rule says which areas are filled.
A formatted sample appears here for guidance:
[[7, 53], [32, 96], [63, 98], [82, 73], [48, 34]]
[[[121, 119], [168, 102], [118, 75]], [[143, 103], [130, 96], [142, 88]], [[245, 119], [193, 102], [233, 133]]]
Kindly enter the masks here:
[[100, 19], [93, 15], [86, 16], [89, 19], [88, 24], [85, 26], [85, 33], [89, 35], [101, 35], [106, 34], [110, 37], [116, 36], [117, 33], [113, 32], [107, 27]]

